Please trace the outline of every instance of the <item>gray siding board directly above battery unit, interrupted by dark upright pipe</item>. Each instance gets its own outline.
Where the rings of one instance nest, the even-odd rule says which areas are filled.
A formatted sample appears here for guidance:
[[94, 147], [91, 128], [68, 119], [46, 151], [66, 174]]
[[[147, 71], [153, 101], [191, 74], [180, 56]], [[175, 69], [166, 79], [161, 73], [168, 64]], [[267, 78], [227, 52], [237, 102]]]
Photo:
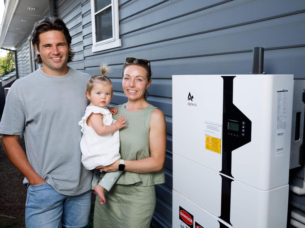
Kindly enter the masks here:
[[[100, 57], [97, 62], [106, 60]], [[264, 71], [268, 74], [294, 74], [295, 78], [305, 78], [302, 70], [305, 64], [305, 47], [265, 50], [264, 60]], [[110, 77], [121, 78], [122, 66], [111, 66], [113, 71], [109, 73]], [[249, 74], [252, 70], [252, 50], [169, 60], [164, 58], [151, 62], [151, 67], [152, 85], [154, 78], [171, 78], [176, 74]], [[86, 67], [85, 71], [88, 74], [99, 74], [99, 67]]]

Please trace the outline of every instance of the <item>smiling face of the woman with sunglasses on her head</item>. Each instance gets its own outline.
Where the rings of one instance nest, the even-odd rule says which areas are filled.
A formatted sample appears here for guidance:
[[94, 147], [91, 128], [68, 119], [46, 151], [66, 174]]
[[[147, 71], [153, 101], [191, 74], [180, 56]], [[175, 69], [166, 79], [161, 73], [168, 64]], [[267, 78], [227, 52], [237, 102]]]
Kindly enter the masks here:
[[146, 89], [151, 80], [147, 79], [146, 70], [138, 65], [127, 66], [123, 75], [123, 90], [129, 100], [144, 99]]

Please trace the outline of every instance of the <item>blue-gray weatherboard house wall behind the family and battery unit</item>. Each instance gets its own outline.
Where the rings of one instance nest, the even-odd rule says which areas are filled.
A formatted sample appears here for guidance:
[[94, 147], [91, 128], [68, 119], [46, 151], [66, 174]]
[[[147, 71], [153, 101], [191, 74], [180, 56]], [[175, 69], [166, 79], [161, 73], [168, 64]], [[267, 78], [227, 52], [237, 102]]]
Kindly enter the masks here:
[[[126, 102], [121, 86], [125, 58], [151, 61], [148, 102], [164, 112], [167, 122], [166, 183], [156, 187], [154, 219], [155, 224], [160, 222], [157, 227], [171, 227], [172, 75], [249, 74], [253, 47], [264, 47], [266, 73], [305, 78], [305, 1], [119, 0], [122, 47], [95, 53], [90, 7], [90, 0], [56, 2], [57, 15], [70, 29], [76, 51], [69, 65], [93, 75], [99, 74], [101, 63], [109, 64], [112, 105], [117, 105]], [[27, 39], [16, 48], [23, 77], [30, 73]], [[301, 174], [291, 172], [291, 180], [303, 178], [297, 171]]]

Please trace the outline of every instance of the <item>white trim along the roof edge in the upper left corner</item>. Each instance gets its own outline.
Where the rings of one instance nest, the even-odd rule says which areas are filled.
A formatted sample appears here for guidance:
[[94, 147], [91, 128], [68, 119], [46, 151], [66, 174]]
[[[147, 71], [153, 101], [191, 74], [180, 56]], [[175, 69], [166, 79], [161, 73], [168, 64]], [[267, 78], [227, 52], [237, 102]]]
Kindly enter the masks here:
[[3, 13], [2, 25], [0, 30], [0, 47], [2, 47], [4, 43], [6, 33], [9, 29], [9, 25], [13, 20], [13, 16], [16, 12], [19, 2], [20, 0], [7, 0], [5, 2], [5, 9]]

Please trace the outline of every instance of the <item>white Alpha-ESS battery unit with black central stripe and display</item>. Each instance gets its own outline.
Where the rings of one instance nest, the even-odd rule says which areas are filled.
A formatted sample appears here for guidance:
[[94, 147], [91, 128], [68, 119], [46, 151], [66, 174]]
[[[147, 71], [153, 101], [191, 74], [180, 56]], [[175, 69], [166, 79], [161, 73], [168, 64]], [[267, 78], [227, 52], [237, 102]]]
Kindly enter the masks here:
[[172, 85], [173, 189], [218, 227], [286, 227], [293, 75], [173, 75]]

